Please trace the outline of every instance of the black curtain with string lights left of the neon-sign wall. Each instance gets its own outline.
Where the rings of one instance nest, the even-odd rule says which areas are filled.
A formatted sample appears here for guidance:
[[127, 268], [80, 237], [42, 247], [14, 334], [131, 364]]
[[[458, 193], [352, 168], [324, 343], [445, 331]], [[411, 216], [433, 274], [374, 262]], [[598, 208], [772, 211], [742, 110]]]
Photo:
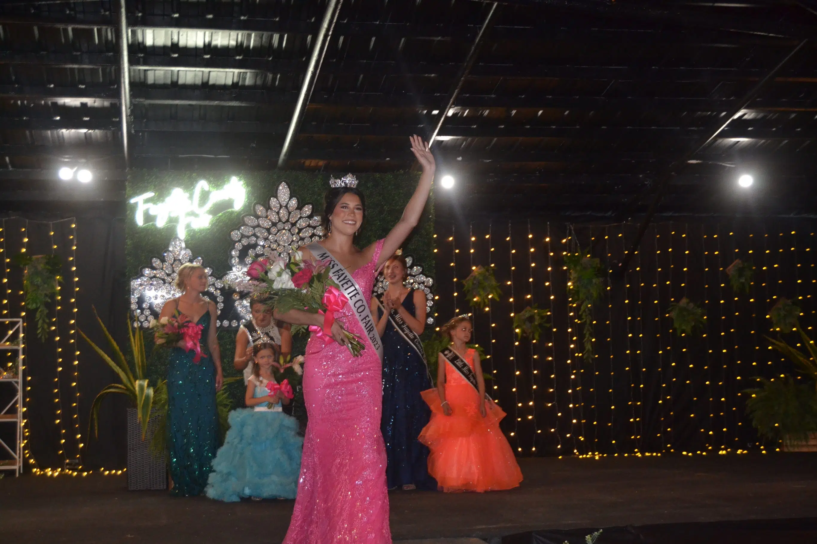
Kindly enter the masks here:
[[[49, 309], [51, 318], [56, 318], [51, 322], [56, 329], [44, 343], [37, 338], [33, 312], [25, 316], [26, 451], [29, 461], [33, 459], [29, 468], [63, 468], [66, 462], [69, 467], [78, 462], [87, 470], [125, 465], [123, 398], [105, 400], [100, 411], [100, 440], [88, 436], [92, 401], [103, 387], [114, 383], [115, 377], [78, 334], [82, 329], [95, 343], [107, 346], [93, 315], [92, 308], [96, 307], [111, 333], [120, 342], [126, 341], [123, 211], [114, 206], [69, 218], [29, 214], [2, 219], [0, 247], [6, 259], [25, 247], [32, 255], [58, 254], [63, 263], [60, 300]], [[20, 317], [25, 312], [23, 270], [6, 262], [0, 273], [7, 279], [0, 287], [3, 317]], [[78, 291], [74, 292], [75, 287]]]

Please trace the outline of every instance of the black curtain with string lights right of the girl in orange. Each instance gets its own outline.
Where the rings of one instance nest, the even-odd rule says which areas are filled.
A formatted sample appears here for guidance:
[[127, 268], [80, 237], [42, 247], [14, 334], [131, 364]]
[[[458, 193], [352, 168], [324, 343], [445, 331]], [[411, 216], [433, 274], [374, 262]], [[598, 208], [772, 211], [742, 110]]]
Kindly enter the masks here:
[[[777, 297], [792, 299], [810, 332], [815, 291], [815, 221], [735, 219], [650, 226], [629, 272], [605, 278], [593, 307], [594, 356], [581, 353], [583, 329], [569, 301], [563, 252], [593, 243], [602, 268], [623, 258], [638, 223], [575, 225], [543, 221], [438, 222], [439, 323], [475, 312], [475, 343], [486, 352], [487, 383], [508, 417], [518, 455], [737, 451], [761, 447], [740, 391], [755, 376], [792, 373], [764, 334]], [[725, 273], [742, 259], [756, 267], [749, 294]], [[462, 280], [493, 266], [502, 300], [472, 310]], [[610, 267], [612, 268], [612, 267]], [[609, 275], [608, 275], [609, 276]], [[456, 278], [456, 280], [455, 280]], [[685, 337], [668, 305], [688, 297], [707, 316]], [[551, 311], [538, 343], [517, 339], [512, 314], [532, 303]], [[795, 341], [797, 338], [788, 338]]]

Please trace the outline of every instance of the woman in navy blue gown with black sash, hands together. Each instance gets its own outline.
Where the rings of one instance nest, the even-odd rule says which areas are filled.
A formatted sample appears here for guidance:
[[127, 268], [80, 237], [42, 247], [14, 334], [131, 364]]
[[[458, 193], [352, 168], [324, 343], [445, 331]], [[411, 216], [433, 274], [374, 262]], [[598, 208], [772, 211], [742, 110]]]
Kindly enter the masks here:
[[[437, 489], [428, 474], [428, 448], [417, 440], [431, 418], [420, 391], [432, 387], [419, 336], [426, 327], [426, 294], [404, 285], [405, 258], [386, 261], [383, 276], [389, 287], [372, 298], [377, 332], [383, 340], [383, 414], [386, 479], [389, 489]], [[391, 317], [390, 317], [391, 316]]]

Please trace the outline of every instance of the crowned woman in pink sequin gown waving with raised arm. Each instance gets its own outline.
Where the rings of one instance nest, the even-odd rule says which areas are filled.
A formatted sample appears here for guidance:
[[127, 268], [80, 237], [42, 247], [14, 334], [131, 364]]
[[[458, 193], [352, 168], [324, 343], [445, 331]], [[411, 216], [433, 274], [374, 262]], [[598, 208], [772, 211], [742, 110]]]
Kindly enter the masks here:
[[[363, 223], [365, 201], [358, 188], [344, 184], [326, 195], [321, 241], [350, 272], [360, 289], [371, 294], [377, 270], [417, 225], [434, 179], [434, 157], [418, 136], [412, 152], [422, 176], [403, 217], [383, 240], [358, 250], [355, 234]], [[304, 258], [309, 250], [301, 248]], [[368, 301], [367, 301], [368, 303]], [[380, 431], [382, 362], [347, 303], [336, 312], [335, 342], [313, 334], [306, 346], [304, 400], [309, 414], [295, 510], [283, 544], [389, 544], [389, 498], [386, 449]], [[323, 326], [323, 317], [299, 310], [276, 314], [292, 324]], [[359, 357], [346, 348], [342, 329], [366, 346]]]

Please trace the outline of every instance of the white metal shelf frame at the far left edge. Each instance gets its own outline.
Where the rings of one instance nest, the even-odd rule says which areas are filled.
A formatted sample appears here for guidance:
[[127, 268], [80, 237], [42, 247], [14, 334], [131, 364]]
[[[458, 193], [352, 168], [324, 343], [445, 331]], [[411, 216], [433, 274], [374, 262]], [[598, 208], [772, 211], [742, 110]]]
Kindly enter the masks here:
[[[2, 372], [0, 374], [0, 387], [16, 388], [8, 404], [5, 406], [0, 405], [2, 406], [0, 425], [16, 425], [14, 444], [11, 444], [11, 442], [7, 444], [0, 437], [0, 471], [15, 471], [16, 475], [20, 475], [23, 471], [23, 399], [25, 398], [23, 395], [23, 387], [25, 387], [23, 378], [25, 368], [23, 366], [23, 320], [20, 318], [0, 319], [0, 324], [5, 325], [0, 329], [0, 334], [4, 334], [3, 330], [7, 331], [0, 340], [0, 351], [16, 351], [17, 353], [16, 368], [12, 368], [11, 371], [0, 369], [0, 372]], [[2, 455], [2, 453], [11, 454], [11, 459], [4, 459], [6, 456]]]

